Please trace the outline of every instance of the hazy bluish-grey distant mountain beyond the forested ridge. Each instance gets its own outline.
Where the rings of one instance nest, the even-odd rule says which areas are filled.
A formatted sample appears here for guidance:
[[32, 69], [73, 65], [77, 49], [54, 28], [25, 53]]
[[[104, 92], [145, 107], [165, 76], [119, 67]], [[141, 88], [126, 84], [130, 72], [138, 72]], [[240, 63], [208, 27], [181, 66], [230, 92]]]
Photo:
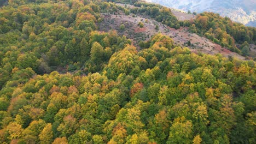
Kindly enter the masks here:
[[146, 0], [184, 11], [212, 11], [231, 20], [256, 27], [255, 0]]

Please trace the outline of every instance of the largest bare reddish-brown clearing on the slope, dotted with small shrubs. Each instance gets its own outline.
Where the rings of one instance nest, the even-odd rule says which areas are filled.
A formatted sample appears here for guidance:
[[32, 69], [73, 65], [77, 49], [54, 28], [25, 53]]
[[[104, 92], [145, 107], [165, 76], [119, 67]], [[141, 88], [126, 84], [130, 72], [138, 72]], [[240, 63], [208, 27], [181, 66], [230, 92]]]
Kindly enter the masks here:
[[[132, 17], [132, 15], [124, 14], [102, 14], [102, 17], [104, 17], [104, 20], [98, 25], [100, 31], [108, 32], [110, 29], [115, 29], [120, 35], [126, 35], [127, 38], [131, 39], [133, 44], [136, 46], [138, 46], [139, 41], [149, 40], [153, 35], [160, 32], [171, 37], [174, 40], [174, 44], [187, 46], [192, 52], [202, 52], [211, 55], [222, 53], [225, 57], [232, 56], [239, 59], [245, 59], [245, 57], [238, 55], [235, 52], [231, 52], [225, 47], [213, 43], [211, 40], [200, 37], [195, 33], [188, 32], [188, 27], [174, 29], [166, 25], [162, 25], [148, 17], [146, 19], [145, 17], [138, 15]], [[143, 22], [144, 27], [140, 28], [138, 26], [138, 22]], [[123, 31], [120, 29], [121, 24], [125, 25], [125, 29]], [[159, 27], [158, 30], [155, 29], [156, 25]], [[191, 42], [191, 46], [188, 46], [188, 41]]]

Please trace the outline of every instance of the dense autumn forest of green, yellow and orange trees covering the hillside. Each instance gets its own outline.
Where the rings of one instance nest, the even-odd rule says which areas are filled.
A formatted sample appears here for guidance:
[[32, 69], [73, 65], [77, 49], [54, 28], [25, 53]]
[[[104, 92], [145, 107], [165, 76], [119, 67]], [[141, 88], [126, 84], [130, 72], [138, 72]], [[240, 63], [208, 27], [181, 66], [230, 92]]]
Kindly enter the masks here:
[[139, 49], [98, 23], [148, 15], [238, 53], [255, 28], [113, 2], [0, 1], [0, 143], [256, 143], [254, 61], [193, 53], [161, 33]]

